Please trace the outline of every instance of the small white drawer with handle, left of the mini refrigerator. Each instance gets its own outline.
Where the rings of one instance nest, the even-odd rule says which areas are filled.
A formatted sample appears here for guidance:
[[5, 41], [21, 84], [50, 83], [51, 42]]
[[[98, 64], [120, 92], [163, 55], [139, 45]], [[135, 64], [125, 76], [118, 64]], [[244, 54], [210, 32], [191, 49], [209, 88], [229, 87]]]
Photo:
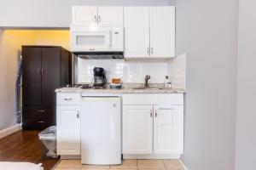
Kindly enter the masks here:
[[79, 105], [81, 94], [58, 93], [57, 105]]

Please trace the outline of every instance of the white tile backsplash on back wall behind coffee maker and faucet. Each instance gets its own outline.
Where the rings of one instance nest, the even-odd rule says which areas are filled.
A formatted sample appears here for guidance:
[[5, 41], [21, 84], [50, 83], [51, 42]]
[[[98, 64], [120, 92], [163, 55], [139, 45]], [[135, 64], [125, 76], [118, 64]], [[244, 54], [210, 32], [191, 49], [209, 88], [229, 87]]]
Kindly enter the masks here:
[[168, 71], [166, 61], [125, 61], [123, 59], [78, 59], [78, 82], [91, 82], [93, 68], [102, 67], [106, 71], [108, 82], [112, 78], [121, 78], [124, 83], [143, 83], [150, 75], [149, 83], [164, 83]]

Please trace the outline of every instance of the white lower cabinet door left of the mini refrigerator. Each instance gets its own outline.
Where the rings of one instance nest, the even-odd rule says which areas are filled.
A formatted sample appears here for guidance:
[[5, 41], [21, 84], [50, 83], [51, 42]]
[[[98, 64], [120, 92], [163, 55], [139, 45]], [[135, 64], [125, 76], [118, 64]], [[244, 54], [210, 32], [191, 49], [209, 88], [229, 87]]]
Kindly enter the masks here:
[[57, 106], [57, 154], [80, 155], [80, 118], [77, 106]]

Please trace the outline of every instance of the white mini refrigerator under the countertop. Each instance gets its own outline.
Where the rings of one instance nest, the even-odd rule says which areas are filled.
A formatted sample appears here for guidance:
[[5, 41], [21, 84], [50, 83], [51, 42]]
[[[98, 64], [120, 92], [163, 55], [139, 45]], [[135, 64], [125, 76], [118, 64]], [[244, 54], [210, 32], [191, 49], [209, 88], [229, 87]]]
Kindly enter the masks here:
[[82, 163], [121, 164], [121, 99], [82, 97], [82, 100]]

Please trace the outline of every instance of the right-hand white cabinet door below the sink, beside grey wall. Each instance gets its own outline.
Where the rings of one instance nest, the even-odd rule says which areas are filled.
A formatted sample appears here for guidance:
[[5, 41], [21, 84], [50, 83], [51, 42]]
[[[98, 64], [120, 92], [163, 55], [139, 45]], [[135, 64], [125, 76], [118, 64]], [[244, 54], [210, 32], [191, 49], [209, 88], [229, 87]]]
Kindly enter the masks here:
[[183, 105], [154, 105], [154, 153], [183, 154]]

